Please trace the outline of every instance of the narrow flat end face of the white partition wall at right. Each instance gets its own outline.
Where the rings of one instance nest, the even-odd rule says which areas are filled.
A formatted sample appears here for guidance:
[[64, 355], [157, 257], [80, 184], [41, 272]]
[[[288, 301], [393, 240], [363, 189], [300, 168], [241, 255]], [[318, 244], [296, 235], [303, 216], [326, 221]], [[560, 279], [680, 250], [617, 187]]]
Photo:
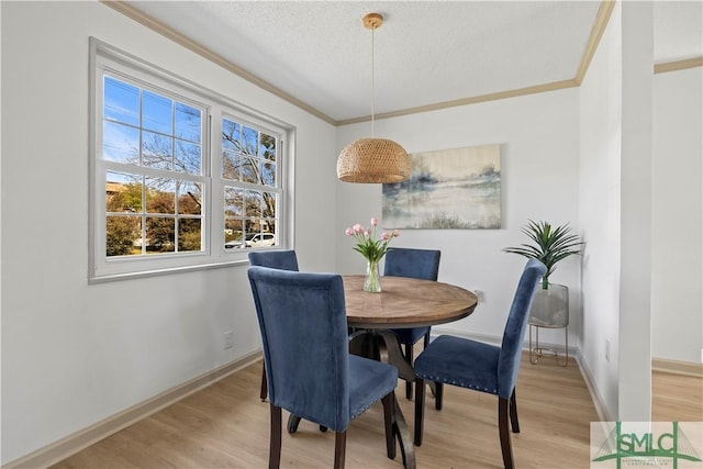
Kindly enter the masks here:
[[651, 2], [622, 5], [621, 299], [617, 420], [651, 420]]

